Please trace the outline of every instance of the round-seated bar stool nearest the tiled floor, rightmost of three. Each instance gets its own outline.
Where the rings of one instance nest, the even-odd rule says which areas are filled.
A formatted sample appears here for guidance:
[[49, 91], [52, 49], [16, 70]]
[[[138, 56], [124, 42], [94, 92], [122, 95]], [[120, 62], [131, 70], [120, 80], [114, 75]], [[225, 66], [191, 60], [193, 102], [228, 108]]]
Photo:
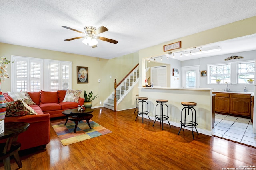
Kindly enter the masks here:
[[[194, 103], [194, 102], [181, 102], [181, 104], [183, 106], [186, 106], [186, 107], [184, 107], [182, 109], [182, 111], [181, 111], [181, 121], [180, 121], [181, 127], [180, 127], [180, 130], [182, 129], [182, 126], [184, 127], [183, 131], [184, 131], [185, 127], [191, 127], [193, 139], [195, 139], [194, 138], [194, 133], [193, 133], [193, 127], [196, 129], [196, 126], [198, 124], [196, 123], [196, 109], [194, 109], [194, 107], [197, 105], [197, 103]], [[185, 109], [185, 117], [184, 117], [184, 120], [183, 120], [182, 119], [182, 113], [183, 113], [184, 109]], [[191, 112], [191, 121], [186, 120], [186, 111], [187, 110], [188, 110], [188, 115], [189, 115], [189, 112]], [[194, 110], [194, 113], [195, 113], [194, 114], [194, 119], [193, 119], [193, 110]], [[197, 133], [197, 135], [199, 135], [197, 129], [196, 129], [196, 133]], [[178, 135], [179, 134], [180, 134], [180, 131], [179, 131]]]

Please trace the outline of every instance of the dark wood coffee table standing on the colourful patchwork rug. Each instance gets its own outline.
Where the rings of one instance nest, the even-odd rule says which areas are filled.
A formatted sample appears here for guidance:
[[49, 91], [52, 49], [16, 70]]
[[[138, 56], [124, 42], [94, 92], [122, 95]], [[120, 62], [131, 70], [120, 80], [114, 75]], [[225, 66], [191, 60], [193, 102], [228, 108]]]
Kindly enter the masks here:
[[79, 121], [86, 120], [88, 126], [91, 128], [89, 120], [92, 119], [93, 115], [90, 114], [93, 112], [93, 109], [91, 108], [86, 108], [83, 111], [77, 111], [77, 109], [68, 109], [62, 111], [62, 114], [66, 115], [67, 119], [64, 125], [66, 125], [68, 120], [74, 121], [75, 122], [75, 129], [74, 133], [76, 133], [76, 128], [78, 125]]

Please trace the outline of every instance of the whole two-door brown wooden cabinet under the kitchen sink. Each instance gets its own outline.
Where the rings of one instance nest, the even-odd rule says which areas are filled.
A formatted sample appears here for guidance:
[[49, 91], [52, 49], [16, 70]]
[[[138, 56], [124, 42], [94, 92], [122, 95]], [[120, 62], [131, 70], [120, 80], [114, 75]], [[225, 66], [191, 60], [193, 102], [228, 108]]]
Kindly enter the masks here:
[[251, 117], [253, 107], [250, 94], [214, 93], [215, 112]]

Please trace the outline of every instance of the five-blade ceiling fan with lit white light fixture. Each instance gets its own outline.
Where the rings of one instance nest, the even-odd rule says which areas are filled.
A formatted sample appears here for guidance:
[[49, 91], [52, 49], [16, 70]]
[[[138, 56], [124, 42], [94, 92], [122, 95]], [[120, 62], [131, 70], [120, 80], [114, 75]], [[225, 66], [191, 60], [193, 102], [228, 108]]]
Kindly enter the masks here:
[[79, 32], [79, 33], [82, 33], [82, 34], [85, 34], [84, 36], [81, 36], [81, 37], [75, 37], [75, 38], [70, 38], [70, 39], [64, 39], [64, 41], [71, 41], [71, 40], [74, 40], [74, 39], [80, 39], [80, 38], [84, 38], [84, 40], [82, 41], [84, 44], [86, 45], [89, 45], [90, 47], [92, 48], [95, 48], [97, 47], [97, 44], [98, 44], [98, 41], [97, 39], [100, 39], [102, 41], [107, 41], [109, 43], [113, 43], [113, 44], [117, 44], [118, 41], [114, 40], [114, 39], [109, 39], [109, 38], [105, 38], [105, 37], [100, 37], [100, 36], [97, 36], [98, 34], [100, 33], [104, 33], [106, 31], [108, 31], [108, 29], [104, 26], [101, 26], [99, 28], [96, 29], [96, 27], [92, 27], [92, 26], [85, 26], [84, 27], [84, 32], [82, 31], [78, 31], [76, 29], [73, 29], [73, 28], [70, 28], [70, 27], [67, 27], [67, 26], [62, 26], [63, 28], [66, 28], [66, 29], [70, 29], [72, 31], [76, 31], [76, 32]]

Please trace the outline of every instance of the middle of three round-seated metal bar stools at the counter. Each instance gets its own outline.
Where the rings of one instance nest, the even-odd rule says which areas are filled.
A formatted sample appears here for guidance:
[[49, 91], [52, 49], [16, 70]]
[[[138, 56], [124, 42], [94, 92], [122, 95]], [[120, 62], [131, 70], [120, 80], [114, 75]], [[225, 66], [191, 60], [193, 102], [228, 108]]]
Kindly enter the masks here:
[[[156, 119], [158, 119], [158, 120], [160, 120], [160, 125], [161, 125], [161, 123], [162, 123], [162, 130], [164, 130], [164, 123], [163, 123], [163, 121], [164, 120], [167, 120], [168, 121], [168, 123], [169, 123], [169, 125], [170, 125], [170, 122], [169, 122], [169, 116], [168, 116], [168, 105], [167, 104], [165, 104], [166, 102], [168, 102], [168, 100], [165, 100], [165, 99], [157, 99], [156, 100], [156, 102], [158, 102], [158, 104], [156, 105], [156, 107], [158, 106], [158, 105], [160, 105], [161, 106], [161, 110], [160, 110], [160, 115], [155, 115], [155, 117], [156, 117]], [[167, 107], [167, 115], [164, 115], [164, 105]], [[154, 122], [154, 124], [156, 123], [156, 119], [155, 119], [155, 122]], [[154, 124], [153, 124], [153, 126], [154, 126]], [[171, 125], [170, 125], [170, 127], [171, 127]]]

